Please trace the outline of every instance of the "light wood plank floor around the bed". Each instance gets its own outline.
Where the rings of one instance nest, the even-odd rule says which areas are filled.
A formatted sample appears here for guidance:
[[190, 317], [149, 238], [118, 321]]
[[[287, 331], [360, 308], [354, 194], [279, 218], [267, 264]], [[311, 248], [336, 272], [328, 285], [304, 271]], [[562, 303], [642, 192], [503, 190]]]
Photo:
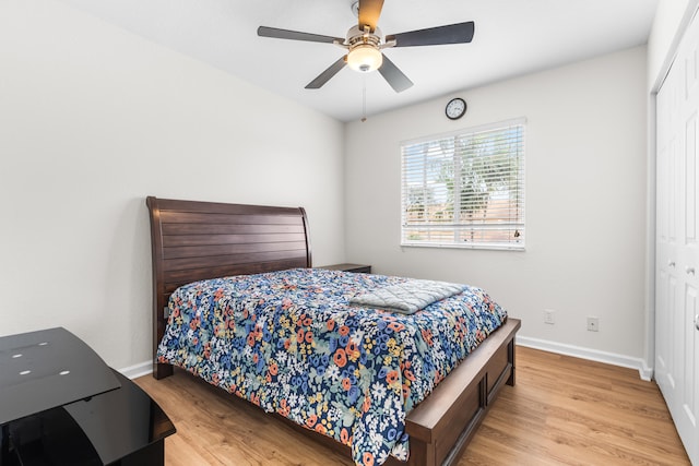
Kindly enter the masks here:
[[[251, 404], [176, 371], [135, 381], [168, 414], [168, 466], [347, 465]], [[638, 371], [517, 348], [505, 386], [459, 462], [465, 465], [689, 465], [663, 398]]]

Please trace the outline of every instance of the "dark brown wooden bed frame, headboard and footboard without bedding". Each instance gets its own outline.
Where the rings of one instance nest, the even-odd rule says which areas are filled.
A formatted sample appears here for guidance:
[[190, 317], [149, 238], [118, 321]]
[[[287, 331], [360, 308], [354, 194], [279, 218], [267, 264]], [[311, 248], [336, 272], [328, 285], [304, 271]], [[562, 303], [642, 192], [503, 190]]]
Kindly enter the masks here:
[[[153, 256], [153, 334], [163, 337], [167, 300], [180, 285], [226, 275], [310, 267], [308, 223], [303, 208], [149, 196]], [[520, 321], [508, 319], [406, 417], [411, 435], [407, 465], [458, 462], [493, 401], [514, 384], [514, 335]], [[155, 359], [154, 359], [155, 360]], [[161, 379], [173, 368], [156, 363]], [[319, 435], [307, 431], [309, 435]], [[340, 451], [345, 445], [323, 438]], [[405, 465], [389, 458], [387, 465]]]

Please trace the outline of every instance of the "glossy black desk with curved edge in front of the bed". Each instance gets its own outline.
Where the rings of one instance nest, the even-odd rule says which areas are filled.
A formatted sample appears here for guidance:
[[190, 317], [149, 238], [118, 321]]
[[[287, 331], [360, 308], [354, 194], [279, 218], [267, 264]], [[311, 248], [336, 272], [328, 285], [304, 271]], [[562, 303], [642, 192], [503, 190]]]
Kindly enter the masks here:
[[80, 338], [0, 338], [0, 465], [158, 465], [175, 427]]

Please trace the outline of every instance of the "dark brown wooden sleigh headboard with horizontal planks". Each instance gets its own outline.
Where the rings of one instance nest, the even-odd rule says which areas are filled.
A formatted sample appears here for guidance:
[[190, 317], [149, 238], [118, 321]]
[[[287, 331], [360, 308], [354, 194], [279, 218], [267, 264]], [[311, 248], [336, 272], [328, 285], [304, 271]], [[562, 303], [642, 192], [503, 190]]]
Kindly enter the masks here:
[[173, 367], [155, 362], [165, 333], [165, 308], [181, 285], [206, 278], [310, 267], [303, 207], [222, 204], [149, 196], [153, 261], [153, 375]]

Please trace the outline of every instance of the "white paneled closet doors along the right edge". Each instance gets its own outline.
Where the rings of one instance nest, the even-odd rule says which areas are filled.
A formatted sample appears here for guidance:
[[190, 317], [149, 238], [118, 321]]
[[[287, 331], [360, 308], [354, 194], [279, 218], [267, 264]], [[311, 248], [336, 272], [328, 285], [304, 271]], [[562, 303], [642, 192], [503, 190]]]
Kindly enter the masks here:
[[655, 380], [699, 465], [699, 21], [656, 100]]

